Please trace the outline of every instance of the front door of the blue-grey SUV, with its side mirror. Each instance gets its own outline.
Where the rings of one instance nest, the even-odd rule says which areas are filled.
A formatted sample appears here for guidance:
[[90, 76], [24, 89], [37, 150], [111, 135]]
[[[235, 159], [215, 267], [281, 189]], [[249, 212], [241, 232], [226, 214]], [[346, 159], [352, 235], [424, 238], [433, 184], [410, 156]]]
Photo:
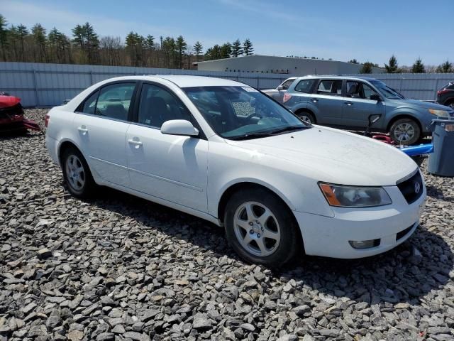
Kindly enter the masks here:
[[365, 129], [369, 124], [369, 116], [381, 114], [384, 117], [383, 102], [370, 99], [371, 94], [378, 93], [365, 82], [347, 80], [345, 100], [343, 102], [343, 125]]

